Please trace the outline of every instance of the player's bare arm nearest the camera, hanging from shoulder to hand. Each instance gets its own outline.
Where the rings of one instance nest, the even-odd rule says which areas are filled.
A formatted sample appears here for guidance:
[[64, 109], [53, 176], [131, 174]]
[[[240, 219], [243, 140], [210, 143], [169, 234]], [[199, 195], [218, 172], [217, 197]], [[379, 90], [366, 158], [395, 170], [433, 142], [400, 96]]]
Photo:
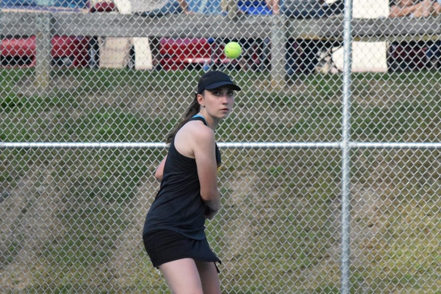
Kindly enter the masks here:
[[200, 196], [211, 209], [212, 213], [207, 217], [211, 218], [221, 209], [215, 153], [216, 142], [213, 131], [208, 127], [198, 128], [195, 133], [193, 150], [200, 182]]

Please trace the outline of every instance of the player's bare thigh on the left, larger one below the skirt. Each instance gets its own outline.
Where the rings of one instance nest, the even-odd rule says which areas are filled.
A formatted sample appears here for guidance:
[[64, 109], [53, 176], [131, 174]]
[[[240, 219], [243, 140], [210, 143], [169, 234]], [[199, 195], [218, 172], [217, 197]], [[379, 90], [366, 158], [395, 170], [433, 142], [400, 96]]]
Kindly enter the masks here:
[[159, 266], [173, 294], [202, 294], [202, 284], [195, 261], [183, 258]]

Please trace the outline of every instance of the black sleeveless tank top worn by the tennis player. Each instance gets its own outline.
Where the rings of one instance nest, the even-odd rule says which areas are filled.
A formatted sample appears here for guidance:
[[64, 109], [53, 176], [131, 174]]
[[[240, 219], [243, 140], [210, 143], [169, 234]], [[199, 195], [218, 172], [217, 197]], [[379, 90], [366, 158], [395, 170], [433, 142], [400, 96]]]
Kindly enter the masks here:
[[[202, 121], [193, 117], [190, 121]], [[216, 145], [216, 163], [221, 166], [221, 153]], [[205, 204], [200, 196], [196, 160], [180, 154], [174, 138], [164, 164], [163, 178], [144, 223], [143, 235], [155, 230], [171, 230], [185, 237], [205, 238]]]

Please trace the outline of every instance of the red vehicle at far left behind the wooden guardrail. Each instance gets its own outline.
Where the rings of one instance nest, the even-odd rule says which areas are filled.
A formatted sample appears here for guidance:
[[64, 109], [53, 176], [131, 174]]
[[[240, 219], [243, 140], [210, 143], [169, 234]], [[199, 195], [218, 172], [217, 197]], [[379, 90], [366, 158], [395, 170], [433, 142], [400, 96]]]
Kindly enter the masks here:
[[[3, 12], [93, 12], [108, 11], [112, 7], [90, 7], [88, 0], [1, 0]], [[35, 66], [35, 36], [0, 36], [0, 64], [3, 67]], [[65, 67], [86, 67], [96, 64], [97, 52], [93, 38], [84, 36], [54, 36], [50, 41], [52, 65]]]

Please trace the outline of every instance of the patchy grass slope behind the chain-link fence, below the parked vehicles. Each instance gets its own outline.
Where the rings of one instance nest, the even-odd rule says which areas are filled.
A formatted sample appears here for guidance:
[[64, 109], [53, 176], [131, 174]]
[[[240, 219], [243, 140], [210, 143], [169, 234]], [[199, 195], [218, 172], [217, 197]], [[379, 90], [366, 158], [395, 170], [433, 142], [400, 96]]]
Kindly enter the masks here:
[[[2, 141], [162, 142], [199, 75], [59, 70], [38, 95], [32, 74], [0, 71]], [[299, 76], [274, 92], [268, 73], [231, 74], [244, 91], [219, 142], [341, 140], [341, 76]], [[352, 140], [440, 142], [440, 80], [440, 72], [354, 74]], [[339, 293], [340, 150], [221, 152], [224, 206], [207, 235], [223, 262], [223, 291]], [[140, 236], [164, 154], [2, 150], [0, 290], [166, 289]], [[439, 158], [435, 149], [353, 150], [352, 293], [440, 289]]]

